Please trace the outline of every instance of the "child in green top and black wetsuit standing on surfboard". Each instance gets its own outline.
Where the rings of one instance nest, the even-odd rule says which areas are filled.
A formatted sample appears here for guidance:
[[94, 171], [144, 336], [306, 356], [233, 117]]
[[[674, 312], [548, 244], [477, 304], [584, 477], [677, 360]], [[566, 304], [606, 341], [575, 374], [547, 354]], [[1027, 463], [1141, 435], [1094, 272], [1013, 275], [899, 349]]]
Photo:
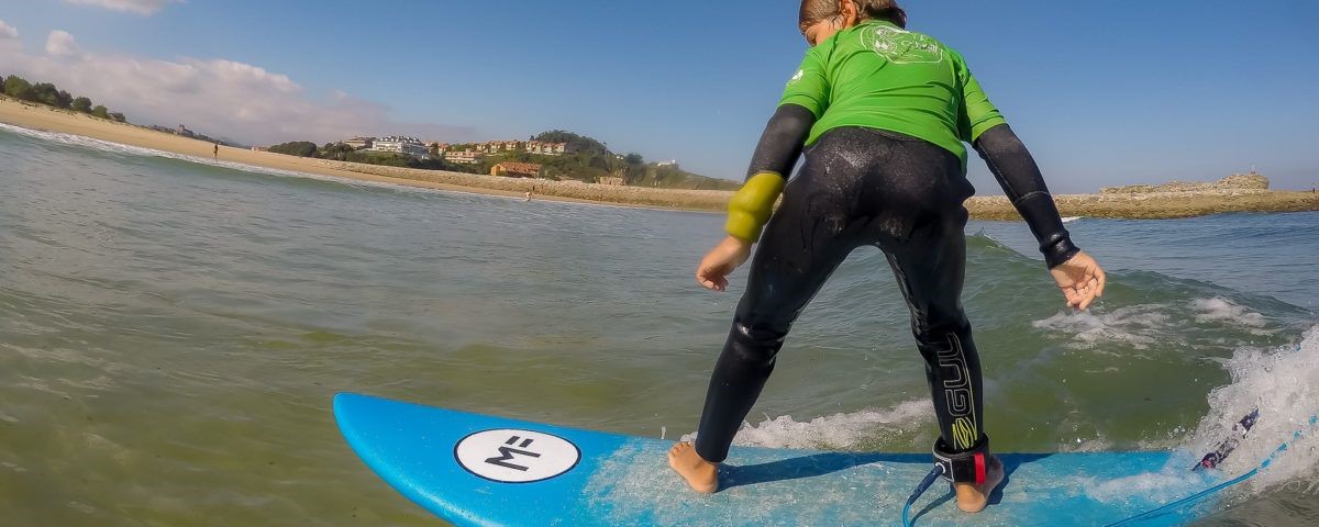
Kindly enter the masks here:
[[695, 444], [674, 445], [669, 465], [692, 489], [719, 490], [719, 462], [789, 328], [848, 253], [872, 245], [888, 257], [911, 311], [939, 423], [934, 461], [959, 507], [977, 513], [1002, 481], [1002, 464], [984, 433], [980, 357], [962, 308], [963, 202], [975, 192], [964, 142], [1029, 224], [1068, 307], [1089, 307], [1104, 291], [1104, 271], [1072, 245], [1034, 159], [962, 55], [907, 32], [896, 1], [803, 0], [799, 22], [811, 49], [729, 204], [728, 237], [696, 270], [702, 286], [724, 291], [760, 242]]

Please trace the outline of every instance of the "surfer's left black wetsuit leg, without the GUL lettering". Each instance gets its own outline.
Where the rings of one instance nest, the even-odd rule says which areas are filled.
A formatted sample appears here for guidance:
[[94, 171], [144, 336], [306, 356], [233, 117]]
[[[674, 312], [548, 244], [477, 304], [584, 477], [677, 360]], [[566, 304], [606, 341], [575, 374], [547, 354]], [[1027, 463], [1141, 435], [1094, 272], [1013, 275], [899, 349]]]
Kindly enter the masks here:
[[720, 462], [774, 370], [783, 337], [830, 274], [863, 241], [852, 225], [857, 167], [820, 148], [787, 183], [752, 258], [747, 292], [710, 378], [696, 453]]

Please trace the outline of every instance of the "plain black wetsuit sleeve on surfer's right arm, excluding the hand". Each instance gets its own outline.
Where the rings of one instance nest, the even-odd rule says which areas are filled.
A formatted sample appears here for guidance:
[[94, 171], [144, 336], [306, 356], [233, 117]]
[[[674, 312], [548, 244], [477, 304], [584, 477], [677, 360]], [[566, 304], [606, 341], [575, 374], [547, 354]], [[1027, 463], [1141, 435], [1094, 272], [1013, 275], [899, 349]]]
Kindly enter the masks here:
[[1080, 249], [1071, 242], [1071, 235], [1063, 228], [1054, 196], [1049, 194], [1045, 177], [1035, 165], [1035, 158], [1026, 145], [1006, 124], [998, 124], [979, 134], [976, 152], [989, 165], [989, 171], [998, 179], [998, 186], [1012, 200], [1021, 217], [1030, 225], [1030, 232], [1039, 242], [1049, 269], [1071, 260]]

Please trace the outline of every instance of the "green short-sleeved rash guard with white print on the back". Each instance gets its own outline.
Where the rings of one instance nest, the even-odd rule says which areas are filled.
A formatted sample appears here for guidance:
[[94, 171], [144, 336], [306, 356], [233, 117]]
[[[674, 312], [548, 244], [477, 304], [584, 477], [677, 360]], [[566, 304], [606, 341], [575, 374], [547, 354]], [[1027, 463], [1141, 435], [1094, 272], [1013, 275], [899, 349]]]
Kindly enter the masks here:
[[921, 33], [877, 20], [811, 47], [780, 105], [815, 115], [811, 145], [839, 126], [877, 128], [939, 145], [967, 166], [966, 142], [1005, 124], [966, 59]]

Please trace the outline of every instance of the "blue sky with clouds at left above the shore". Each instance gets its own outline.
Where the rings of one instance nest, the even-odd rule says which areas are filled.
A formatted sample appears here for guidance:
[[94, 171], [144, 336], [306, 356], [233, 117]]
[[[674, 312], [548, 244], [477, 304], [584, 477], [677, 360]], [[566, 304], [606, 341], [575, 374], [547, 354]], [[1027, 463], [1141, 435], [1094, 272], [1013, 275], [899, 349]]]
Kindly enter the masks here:
[[[549, 129], [741, 179], [795, 0], [0, 0], [0, 75], [243, 144]], [[1055, 194], [1252, 169], [1319, 184], [1319, 3], [906, 0]], [[980, 194], [1001, 194], [972, 154]]]

